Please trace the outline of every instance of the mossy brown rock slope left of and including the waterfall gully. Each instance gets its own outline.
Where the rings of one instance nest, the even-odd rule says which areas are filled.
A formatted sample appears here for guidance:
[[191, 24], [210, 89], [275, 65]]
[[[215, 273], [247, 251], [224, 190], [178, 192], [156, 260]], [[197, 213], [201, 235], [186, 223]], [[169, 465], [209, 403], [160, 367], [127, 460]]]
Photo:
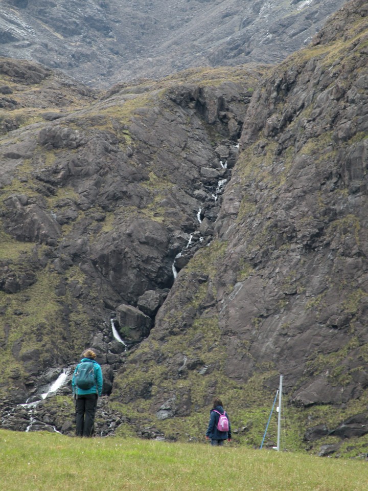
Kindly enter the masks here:
[[108, 93], [33, 63], [0, 68], [5, 411], [37, 398], [49, 367], [86, 344], [109, 394], [125, 361], [112, 327], [128, 345], [146, 337], [177, 272], [211, 241], [232, 142], [266, 67]]

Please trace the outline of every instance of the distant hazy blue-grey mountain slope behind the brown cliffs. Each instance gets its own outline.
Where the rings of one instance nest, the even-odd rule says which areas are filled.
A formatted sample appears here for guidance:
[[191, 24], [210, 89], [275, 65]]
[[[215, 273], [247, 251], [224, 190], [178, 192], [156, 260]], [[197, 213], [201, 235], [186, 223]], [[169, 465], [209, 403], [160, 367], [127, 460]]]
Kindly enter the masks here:
[[308, 43], [343, 0], [5, 0], [0, 55], [90, 85], [191, 66], [275, 63]]

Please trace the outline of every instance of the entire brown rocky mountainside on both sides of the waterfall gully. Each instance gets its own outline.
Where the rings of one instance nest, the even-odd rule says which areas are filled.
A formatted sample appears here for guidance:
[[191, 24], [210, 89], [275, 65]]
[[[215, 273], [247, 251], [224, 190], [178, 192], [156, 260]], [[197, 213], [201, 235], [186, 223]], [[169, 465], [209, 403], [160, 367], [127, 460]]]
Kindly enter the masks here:
[[1, 60], [4, 427], [88, 345], [102, 431], [200, 439], [219, 394], [258, 445], [282, 373], [292, 448], [363, 449], [366, 10], [272, 69], [107, 93]]

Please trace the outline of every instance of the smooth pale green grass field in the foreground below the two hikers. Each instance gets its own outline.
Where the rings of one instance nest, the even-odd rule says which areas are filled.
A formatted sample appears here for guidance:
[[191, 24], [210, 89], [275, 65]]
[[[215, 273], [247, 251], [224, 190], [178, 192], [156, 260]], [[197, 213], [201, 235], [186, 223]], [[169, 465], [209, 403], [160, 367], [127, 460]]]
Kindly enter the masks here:
[[4, 491], [366, 491], [362, 460], [0, 431]]

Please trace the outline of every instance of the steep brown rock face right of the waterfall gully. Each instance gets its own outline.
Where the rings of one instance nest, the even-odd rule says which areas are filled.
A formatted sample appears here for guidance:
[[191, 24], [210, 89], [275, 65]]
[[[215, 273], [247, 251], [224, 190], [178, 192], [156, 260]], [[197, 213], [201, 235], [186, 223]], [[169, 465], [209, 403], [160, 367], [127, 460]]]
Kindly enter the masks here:
[[257, 444], [260, 400], [281, 373], [295, 425], [325, 429], [308, 445], [366, 421], [366, 8], [342, 9], [258, 86], [214, 239], [180, 272], [114, 398], [166, 420], [200, 418], [225, 394]]

